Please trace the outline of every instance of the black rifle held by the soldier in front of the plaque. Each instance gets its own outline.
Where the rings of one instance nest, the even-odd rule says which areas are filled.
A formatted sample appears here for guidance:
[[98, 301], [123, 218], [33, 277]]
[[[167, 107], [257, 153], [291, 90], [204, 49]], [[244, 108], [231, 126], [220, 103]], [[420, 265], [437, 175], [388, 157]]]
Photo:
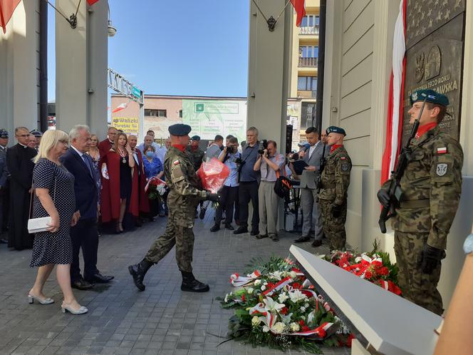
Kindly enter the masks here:
[[391, 182], [388, 189], [389, 195], [389, 203], [388, 205], [383, 205], [383, 209], [380, 213], [380, 219], [378, 220], [378, 225], [380, 226], [381, 233], [386, 232], [386, 221], [396, 215], [395, 208], [399, 207], [399, 202], [402, 200], [402, 190], [401, 190], [401, 178], [404, 175], [405, 168], [407, 168], [407, 163], [410, 161], [410, 142], [412, 139], [415, 138], [417, 134], [417, 129], [419, 128], [419, 121], [422, 112], [424, 111], [425, 101], [427, 101], [427, 96], [425, 94], [421, 94], [425, 96], [424, 101], [422, 101], [422, 107], [420, 108], [419, 115], [414, 121], [414, 125], [412, 126], [412, 130], [410, 131], [409, 139], [405, 144], [405, 147], [402, 148], [399, 157], [397, 157], [397, 166], [394, 171], [391, 172]]

